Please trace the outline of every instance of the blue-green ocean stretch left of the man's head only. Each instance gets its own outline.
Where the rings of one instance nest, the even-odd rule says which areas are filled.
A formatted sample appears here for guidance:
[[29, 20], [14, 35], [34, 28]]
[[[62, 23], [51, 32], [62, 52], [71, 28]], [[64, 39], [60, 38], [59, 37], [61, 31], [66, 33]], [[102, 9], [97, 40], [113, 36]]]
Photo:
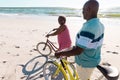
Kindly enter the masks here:
[[81, 9], [63, 7], [0, 7], [0, 15], [81, 16]]

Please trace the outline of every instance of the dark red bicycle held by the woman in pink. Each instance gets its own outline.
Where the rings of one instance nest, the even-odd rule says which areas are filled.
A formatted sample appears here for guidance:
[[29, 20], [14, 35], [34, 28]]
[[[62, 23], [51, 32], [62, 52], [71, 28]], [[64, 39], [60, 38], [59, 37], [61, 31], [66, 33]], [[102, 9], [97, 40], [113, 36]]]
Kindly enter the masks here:
[[[48, 34], [50, 34], [52, 31], [55, 30], [51, 30], [48, 32]], [[47, 37], [46, 42], [39, 42], [36, 45], [36, 49], [41, 55], [48, 56], [52, 53], [52, 51], [56, 52], [58, 50], [58, 48], [48, 38], [49, 37]]]

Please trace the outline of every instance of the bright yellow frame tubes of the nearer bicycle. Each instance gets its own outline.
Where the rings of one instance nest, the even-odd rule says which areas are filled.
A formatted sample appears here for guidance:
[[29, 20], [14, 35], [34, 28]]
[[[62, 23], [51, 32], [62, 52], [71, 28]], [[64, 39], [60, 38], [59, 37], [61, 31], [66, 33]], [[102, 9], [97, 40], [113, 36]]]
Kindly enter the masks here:
[[[71, 70], [68, 67], [68, 65], [70, 65], [69, 62], [67, 62], [65, 59], [60, 59], [60, 62], [61, 63], [54, 61], [54, 64], [56, 64], [58, 68], [52, 77], [55, 77], [59, 73], [59, 70], [62, 70], [66, 80], [79, 80], [78, 74], [74, 69], [73, 71], [75, 72], [75, 77], [72, 75]], [[63, 66], [66, 68], [66, 71], [68, 71], [69, 76], [66, 74], [66, 71], [64, 70]]]

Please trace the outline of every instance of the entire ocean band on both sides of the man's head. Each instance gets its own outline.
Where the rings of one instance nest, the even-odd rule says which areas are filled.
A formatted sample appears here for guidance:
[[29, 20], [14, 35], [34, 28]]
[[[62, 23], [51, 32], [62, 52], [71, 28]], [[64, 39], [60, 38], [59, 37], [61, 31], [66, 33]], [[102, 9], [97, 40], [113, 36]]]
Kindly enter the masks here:
[[[99, 9], [102, 17], [120, 17], [120, 7], [110, 9]], [[37, 16], [59, 16], [81, 17], [82, 9], [65, 7], [0, 7], [0, 15], [37, 15]]]

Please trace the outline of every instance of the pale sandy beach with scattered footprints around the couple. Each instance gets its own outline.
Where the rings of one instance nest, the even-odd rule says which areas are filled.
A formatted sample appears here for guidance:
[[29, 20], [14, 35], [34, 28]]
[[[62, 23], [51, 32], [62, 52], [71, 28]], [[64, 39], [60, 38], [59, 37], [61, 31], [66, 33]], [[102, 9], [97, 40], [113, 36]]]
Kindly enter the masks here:
[[[105, 25], [105, 37], [102, 46], [102, 63], [109, 63], [120, 71], [120, 19], [101, 18]], [[82, 17], [67, 17], [72, 37], [81, 28]], [[0, 80], [26, 80], [20, 65], [39, 55], [36, 44], [45, 41], [45, 33], [58, 27], [57, 16], [0, 16]], [[57, 43], [56, 37], [50, 38]], [[94, 71], [94, 76], [99, 72]], [[32, 80], [32, 79], [31, 79]], [[36, 79], [37, 80], [37, 79]], [[38, 80], [44, 80], [41, 77]], [[120, 80], [120, 79], [119, 79]]]

